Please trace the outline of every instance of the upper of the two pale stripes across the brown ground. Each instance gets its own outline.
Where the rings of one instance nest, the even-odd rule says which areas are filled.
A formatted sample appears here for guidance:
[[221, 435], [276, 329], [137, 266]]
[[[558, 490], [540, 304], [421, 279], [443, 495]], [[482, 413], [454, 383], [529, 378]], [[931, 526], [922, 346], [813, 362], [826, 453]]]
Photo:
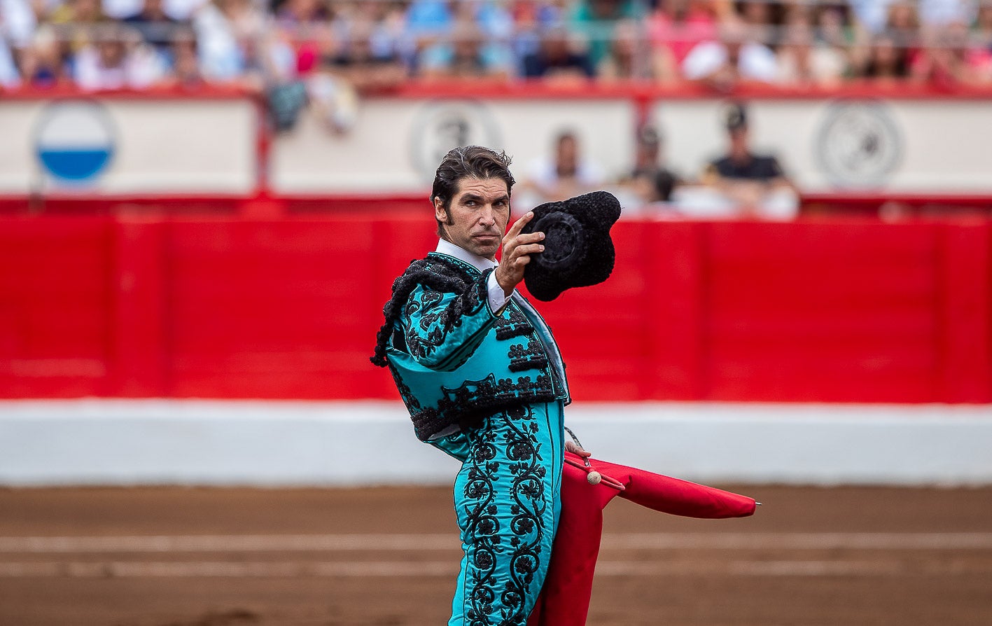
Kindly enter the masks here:
[[[992, 550], [992, 533], [607, 533], [606, 550]], [[0, 554], [457, 550], [453, 535], [0, 537]]]

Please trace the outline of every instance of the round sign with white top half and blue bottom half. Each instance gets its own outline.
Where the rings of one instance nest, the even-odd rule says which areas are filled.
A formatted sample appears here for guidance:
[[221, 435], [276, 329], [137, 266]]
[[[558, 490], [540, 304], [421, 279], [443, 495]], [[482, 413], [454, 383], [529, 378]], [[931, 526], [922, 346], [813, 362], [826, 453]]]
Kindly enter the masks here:
[[85, 184], [99, 178], [114, 157], [113, 120], [98, 102], [54, 102], [41, 113], [35, 154], [54, 179]]

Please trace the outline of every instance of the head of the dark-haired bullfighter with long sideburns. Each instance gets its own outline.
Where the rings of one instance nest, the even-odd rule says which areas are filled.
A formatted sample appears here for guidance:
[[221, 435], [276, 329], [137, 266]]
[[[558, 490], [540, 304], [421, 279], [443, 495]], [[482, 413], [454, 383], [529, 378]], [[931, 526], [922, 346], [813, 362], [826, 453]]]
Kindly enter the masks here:
[[434, 175], [431, 201], [437, 234], [478, 256], [493, 258], [510, 220], [510, 157], [480, 146], [451, 150]]

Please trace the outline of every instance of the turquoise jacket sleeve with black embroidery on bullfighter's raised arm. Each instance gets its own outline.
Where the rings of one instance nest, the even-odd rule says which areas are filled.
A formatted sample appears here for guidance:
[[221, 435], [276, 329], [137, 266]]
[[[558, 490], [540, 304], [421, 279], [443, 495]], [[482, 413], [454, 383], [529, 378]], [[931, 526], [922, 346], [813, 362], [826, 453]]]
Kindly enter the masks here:
[[451, 370], [464, 363], [492, 328], [497, 315], [489, 306], [488, 275], [461, 293], [418, 286], [398, 320], [407, 351], [421, 365]]

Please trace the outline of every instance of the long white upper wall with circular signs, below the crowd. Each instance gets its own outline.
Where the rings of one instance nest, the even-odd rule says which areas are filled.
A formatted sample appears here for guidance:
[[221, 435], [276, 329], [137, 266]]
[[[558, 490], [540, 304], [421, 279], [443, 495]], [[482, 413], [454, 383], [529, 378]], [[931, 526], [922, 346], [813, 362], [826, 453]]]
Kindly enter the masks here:
[[[79, 119], [60, 111], [75, 107]], [[660, 99], [648, 117], [666, 138], [669, 165], [689, 180], [726, 147], [721, 97]], [[992, 106], [967, 98], [807, 99], [749, 102], [752, 144], [776, 154], [806, 192], [992, 194]], [[106, 97], [0, 102], [0, 193], [250, 193], [257, 183], [259, 110], [249, 99]], [[624, 94], [588, 97], [370, 97], [354, 124], [334, 132], [304, 111], [275, 138], [269, 169], [282, 193], [423, 193], [447, 149], [505, 149], [514, 173], [552, 154], [575, 131], [606, 180], [632, 166], [638, 105]], [[93, 117], [97, 122], [93, 122]], [[113, 157], [81, 184], [48, 175], [46, 133], [66, 137], [90, 119]], [[52, 120], [62, 119], [62, 132]], [[94, 130], [95, 129], [95, 130]], [[51, 132], [50, 132], [51, 131]], [[75, 133], [78, 134], [78, 133]], [[90, 133], [91, 135], [92, 133]], [[69, 132], [68, 135], [73, 135]], [[93, 137], [89, 137], [89, 142]], [[87, 141], [83, 141], [85, 144]], [[98, 142], [99, 143], [99, 142]]]

